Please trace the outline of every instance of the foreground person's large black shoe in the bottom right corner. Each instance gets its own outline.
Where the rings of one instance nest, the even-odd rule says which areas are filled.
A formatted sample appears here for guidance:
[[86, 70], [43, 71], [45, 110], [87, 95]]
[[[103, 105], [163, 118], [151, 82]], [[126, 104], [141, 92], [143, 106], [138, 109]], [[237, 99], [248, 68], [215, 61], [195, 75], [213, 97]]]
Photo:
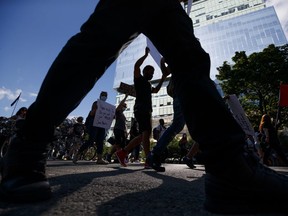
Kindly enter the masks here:
[[253, 158], [239, 156], [234, 167], [205, 176], [204, 208], [213, 213], [288, 213], [288, 177]]

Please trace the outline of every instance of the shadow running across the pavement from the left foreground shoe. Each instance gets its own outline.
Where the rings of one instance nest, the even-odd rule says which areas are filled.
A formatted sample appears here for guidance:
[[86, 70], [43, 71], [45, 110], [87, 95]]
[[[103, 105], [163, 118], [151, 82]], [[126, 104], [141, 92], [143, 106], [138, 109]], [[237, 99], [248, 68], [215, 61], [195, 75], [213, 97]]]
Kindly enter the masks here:
[[[82, 163], [82, 164], [85, 164], [85, 163]], [[91, 162], [90, 163], [87, 162], [86, 164], [91, 164]], [[53, 164], [49, 166], [61, 167], [61, 164]], [[67, 167], [71, 165], [65, 164], [65, 166]], [[62, 167], [63, 167], [63, 164], [62, 164]], [[42, 215], [43, 213], [49, 211], [50, 209], [53, 209], [59, 201], [67, 199], [69, 195], [77, 191], [80, 191], [82, 188], [85, 188], [87, 185], [91, 184], [93, 181], [95, 180], [97, 181], [97, 179], [101, 179], [102, 177], [109, 177], [109, 176], [112, 176], [112, 177], [121, 176], [121, 175], [133, 173], [135, 171], [138, 171], [138, 170], [114, 168], [112, 171], [100, 172], [96, 170], [94, 172], [79, 172], [79, 173], [66, 174], [66, 175], [64, 174], [60, 176], [49, 177], [48, 179], [52, 187], [52, 191], [53, 191], [53, 197], [51, 199], [47, 201], [36, 202], [36, 203], [0, 202], [0, 215], [1, 216]], [[87, 195], [87, 198], [89, 198], [89, 194], [86, 194], [86, 195]], [[81, 196], [85, 197], [85, 194], [80, 194], [79, 197]], [[91, 198], [92, 197], [90, 197], [90, 199]], [[81, 199], [79, 201], [81, 201]], [[67, 200], [67, 205], [69, 205], [69, 200]], [[69, 209], [69, 207], [67, 209]], [[83, 214], [84, 213], [85, 212], [83, 212]], [[59, 215], [63, 215], [62, 212], [59, 212]], [[69, 215], [73, 215], [73, 209], [71, 210]]]

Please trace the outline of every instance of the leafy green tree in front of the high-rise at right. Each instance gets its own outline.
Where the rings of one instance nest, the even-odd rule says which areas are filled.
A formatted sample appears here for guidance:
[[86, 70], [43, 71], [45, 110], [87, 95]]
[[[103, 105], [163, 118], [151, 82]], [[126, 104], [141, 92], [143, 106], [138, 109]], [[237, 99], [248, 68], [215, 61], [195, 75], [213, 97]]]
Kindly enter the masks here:
[[[226, 95], [235, 94], [254, 127], [261, 116], [276, 117], [280, 83], [288, 83], [288, 44], [271, 44], [262, 52], [247, 56], [236, 52], [233, 64], [224, 62], [218, 67], [216, 78]], [[288, 122], [287, 112], [279, 118], [280, 125]]]

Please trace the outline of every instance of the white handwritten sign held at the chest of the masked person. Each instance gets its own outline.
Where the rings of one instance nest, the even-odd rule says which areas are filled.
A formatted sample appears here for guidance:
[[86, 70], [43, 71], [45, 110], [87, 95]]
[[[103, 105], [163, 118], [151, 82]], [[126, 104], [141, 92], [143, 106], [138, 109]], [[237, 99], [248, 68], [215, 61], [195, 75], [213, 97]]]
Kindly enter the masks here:
[[97, 110], [93, 126], [109, 129], [115, 116], [115, 106], [102, 100], [97, 100]]

